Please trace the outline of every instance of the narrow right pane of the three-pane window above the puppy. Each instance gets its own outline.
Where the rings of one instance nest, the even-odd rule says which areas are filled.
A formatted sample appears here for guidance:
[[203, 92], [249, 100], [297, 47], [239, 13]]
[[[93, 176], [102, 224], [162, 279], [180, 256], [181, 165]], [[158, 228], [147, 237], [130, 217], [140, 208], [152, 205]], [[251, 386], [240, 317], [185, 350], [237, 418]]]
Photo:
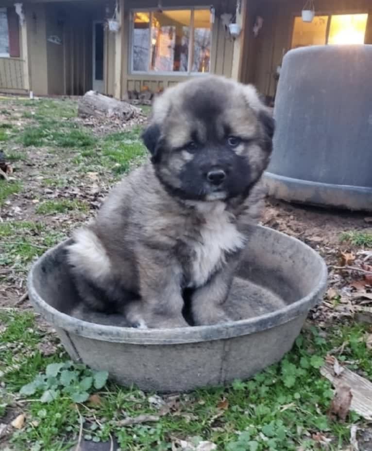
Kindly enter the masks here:
[[192, 72], [209, 72], [211, 49], [210, 12], [207, 9], [194, 11], [194, 58]]

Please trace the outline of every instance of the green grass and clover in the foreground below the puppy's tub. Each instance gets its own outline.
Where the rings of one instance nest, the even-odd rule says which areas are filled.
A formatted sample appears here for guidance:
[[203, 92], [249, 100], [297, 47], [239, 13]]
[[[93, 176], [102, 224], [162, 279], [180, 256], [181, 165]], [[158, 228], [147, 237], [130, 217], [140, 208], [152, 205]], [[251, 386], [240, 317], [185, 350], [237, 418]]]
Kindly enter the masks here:
[[[67, 356], [40, 355], [37, 343], [43, 339], [43, 333], [32, 314], [0, 312], [0, 322], [5, 325], [0, 341], [11, 343], [11, 347], [0, 347], [3, 380], [10, 394], [19, 397], [23, 385], [45, 372], [49, 363], [66, 361]], [[122, 450], [171, 450], [175, 437], [193, 437], [195, 442], [210, 440], [219, 451], [295, 451], [300, 447], [315, 450], [316, 433], [331, 439], [329, 451], [346, 449], [350, 424], [359, 418], [352, 413], [346, 423], [340, 423], [326, 415], [333, 392], [319, 369], [327, 352], [345, 343], [339, 360], [352, 361], [348, 364], [351, 369], [358, 365], [371, 378], [372, 351], [366, 345], [367, 333], [367, 326], [335, 325], [324, 338], [312, 328], [297, 338], [282, 361], [253, 379], [181, 395], [173, 410], [160, 415], [154, 423], [120, 426], [123, 412], [132, 417], [159, 414], [149, 398], [151, 394], [145, 395], [135, 387], [109, 382], [98, 392], [92, 388], [90, 393], [98, 395], [96, 404], [74, 404], [66, 395], [44, 403], [40, 394], [29, 395], [33, 402], [23, 404], [26, 427], [13, 434], [12, 442], [17, 451], [68, 449], [76, 443], [79, 410], [86, 439], [105, 441], [110, 434], [115, 435]], [[15, 353], [15, 349], [19, 350]]]

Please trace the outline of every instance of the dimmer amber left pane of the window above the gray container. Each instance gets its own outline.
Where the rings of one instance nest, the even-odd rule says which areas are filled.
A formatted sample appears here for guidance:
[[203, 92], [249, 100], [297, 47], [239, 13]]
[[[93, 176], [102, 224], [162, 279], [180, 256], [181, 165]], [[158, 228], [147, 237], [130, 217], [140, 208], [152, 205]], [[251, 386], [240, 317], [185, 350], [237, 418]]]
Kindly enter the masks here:
[[305, 45], [326, 43], [328, 16], [316, 16], [312, 22], [304, 22], [302, 17], [294, 19], [292, 49]]

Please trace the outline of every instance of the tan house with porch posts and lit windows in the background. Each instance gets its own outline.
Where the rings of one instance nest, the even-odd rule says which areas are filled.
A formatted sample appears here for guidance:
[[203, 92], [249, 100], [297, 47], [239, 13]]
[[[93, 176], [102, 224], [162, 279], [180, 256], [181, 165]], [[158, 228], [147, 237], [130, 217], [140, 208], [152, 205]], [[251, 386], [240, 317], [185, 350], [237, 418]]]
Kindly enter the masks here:
[[372, 44], [371, 0], [315, 0], [311, 23], [304, 1], [0, 0], [0, 91], [126, 98], [211, 72], [273, 96], [289, 49]]

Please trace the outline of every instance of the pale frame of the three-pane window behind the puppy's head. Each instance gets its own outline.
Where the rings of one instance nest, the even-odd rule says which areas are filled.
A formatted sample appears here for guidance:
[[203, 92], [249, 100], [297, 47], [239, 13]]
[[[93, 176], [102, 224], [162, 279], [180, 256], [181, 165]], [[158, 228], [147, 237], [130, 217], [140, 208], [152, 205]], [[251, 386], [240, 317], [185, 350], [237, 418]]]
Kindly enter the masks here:
[[[189, 77], [189, 76], [205, 76], [205, 75], [210, 75], [212, 72], [209, 70], [208, 72], [193, 72], [191, 71], [192, 68], [192, 62], [193, 62], [193, 58], [194, 58], [194, 11], [197, 10], [210, 10], [210, 5], [206, 5], [206, 6], [173, 6], [173, 7], [167, 7], [167, 8], [162, 8], [163, 11], [176, 11], [176, 10], [189, 10], [190, 11], [190, 39], [188, 42], [188, 60], [187, 60], [187, 71], [185, 72], [175, 72], [175, 71], [134, 71], [133, 70], [133, 35], [134, 35], [134, 14], [135, 13], [150, 13], [150, 30], [151, 30], [151, 13], [153, 12], [157, 12], [158, 9], [157, 8], [133, 8], [130, 10], [129, 12], [129, 21], [130, 21], [130, 26], [129, 26], [129, 52], [128, 52], [128, 57], [129, 57], [129, 61], [128, 61], [128, 67], [129, 67], [129, 74], [130, 75], [159, 75], [159, 76], [167, 76], [167, 77]], [[214, 29], [214, 23], [211, 23], [211, 28], [210, 28], [210, 32], [211, 32], [211, 48], [210, 48], [210, 58], [209, 58], [209, 64], [211, 65], [211, 61], [212, 61], [212, 47], [213, 47], [213, 29]], [[151, 32], [150, 32], [150, 40], [151, 40]], [[150, 40], [149, 40], [149, 49], [151, 49], [151, 45], [150, 45]], [[151, 50], [150, 50], [151, 52]], [[149, 57], [149, 67], [150, 67], [150, 57]]]

